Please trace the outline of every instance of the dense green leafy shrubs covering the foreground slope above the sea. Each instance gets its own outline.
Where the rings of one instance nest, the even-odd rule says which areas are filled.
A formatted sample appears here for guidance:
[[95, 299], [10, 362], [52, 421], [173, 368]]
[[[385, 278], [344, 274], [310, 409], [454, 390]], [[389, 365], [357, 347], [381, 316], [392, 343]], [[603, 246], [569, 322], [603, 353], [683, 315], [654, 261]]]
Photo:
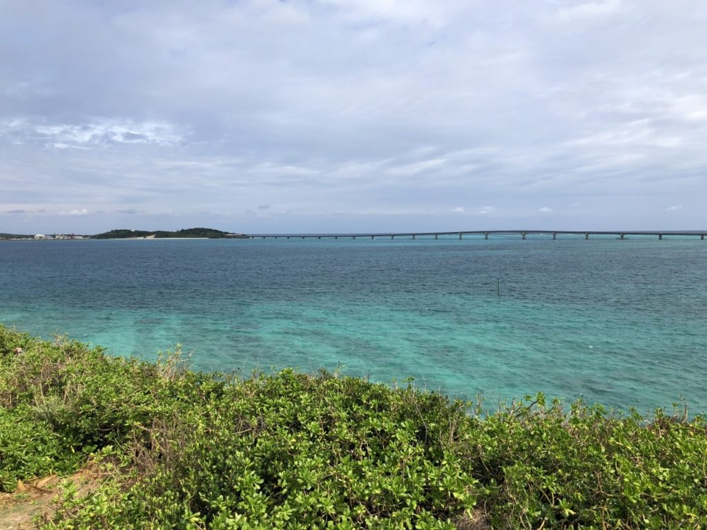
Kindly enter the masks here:
[[707, 424], [546, 404], [485, 414], [322, 372], [247, 379], [0, 326], [0, 491], [67, 486], [52, 529], [701, 528]]

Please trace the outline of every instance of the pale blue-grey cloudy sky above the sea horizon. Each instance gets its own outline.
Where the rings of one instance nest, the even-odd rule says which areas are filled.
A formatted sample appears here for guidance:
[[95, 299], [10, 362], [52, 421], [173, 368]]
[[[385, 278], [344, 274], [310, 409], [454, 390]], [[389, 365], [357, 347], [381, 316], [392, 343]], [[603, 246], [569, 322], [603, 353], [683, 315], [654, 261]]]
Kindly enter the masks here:
[[704, 0], [0, 0], [0, 232], [701, 230]]

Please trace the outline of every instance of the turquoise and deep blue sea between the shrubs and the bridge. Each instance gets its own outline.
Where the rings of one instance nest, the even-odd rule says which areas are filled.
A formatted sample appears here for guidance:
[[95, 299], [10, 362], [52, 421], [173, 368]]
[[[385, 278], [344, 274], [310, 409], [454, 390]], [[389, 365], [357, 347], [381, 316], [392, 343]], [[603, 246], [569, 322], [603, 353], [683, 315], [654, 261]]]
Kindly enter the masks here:
[[0, 322], [146, 359], [181, 343], [204, 370], [707, 412], [706, 264], [689, 237], [1, 242]]

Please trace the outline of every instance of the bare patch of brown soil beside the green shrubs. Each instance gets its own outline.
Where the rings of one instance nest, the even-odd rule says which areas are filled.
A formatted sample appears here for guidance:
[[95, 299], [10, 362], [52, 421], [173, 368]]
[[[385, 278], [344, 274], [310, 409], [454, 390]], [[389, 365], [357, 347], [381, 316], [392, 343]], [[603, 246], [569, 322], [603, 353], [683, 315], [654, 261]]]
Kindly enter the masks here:
[[79, 495], [86, 495], [100, 485], [98, 466], [90, 464], [78, 473], [59, 478], [49, 475], [29, 482], [17, 482], [15, 493], [0, 493], [0, 530], [36, 529], [35, 519], [56, 510], [58, 497], [62, 495], [62, 483], [73, 482]]

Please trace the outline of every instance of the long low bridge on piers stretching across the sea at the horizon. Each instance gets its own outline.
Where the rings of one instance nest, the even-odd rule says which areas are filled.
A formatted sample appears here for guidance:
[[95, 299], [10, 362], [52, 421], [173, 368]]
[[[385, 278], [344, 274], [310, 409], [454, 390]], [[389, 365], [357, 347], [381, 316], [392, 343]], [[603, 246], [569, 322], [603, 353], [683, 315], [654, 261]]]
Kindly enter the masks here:
[[645, 230], [455, 230], [452, 232], [350, 232], [350, 233], [320, 233], [320, 234], [228, 234], [230, 237], [250, 237], [250, 239], [352, 239], [370, 238], [375, 240], [376, 237], [385, 237], [395, 240], [396, 237], [407, 237], [417, 239], [418, 237], [427, 237], [439, 239], [440, 237], [459, 237], [464, 236], [484, 236], [484, 239], [489, 239], [492, 235], [518, 235], [522, 239], [527, 239], [529, 235], [545, 235], [552, 236], [552, 239], [557, 239], [558, 235], [577, 235], [588, 240], [592, 235], [614, 235], [623, 240], [626, 236], [654, 236], [658, 240], [662, 240], [667, 236], [699, 236], [704, 240], [707, 235], [707, 230], [662, 230], [662, 231], [645, 231]]

